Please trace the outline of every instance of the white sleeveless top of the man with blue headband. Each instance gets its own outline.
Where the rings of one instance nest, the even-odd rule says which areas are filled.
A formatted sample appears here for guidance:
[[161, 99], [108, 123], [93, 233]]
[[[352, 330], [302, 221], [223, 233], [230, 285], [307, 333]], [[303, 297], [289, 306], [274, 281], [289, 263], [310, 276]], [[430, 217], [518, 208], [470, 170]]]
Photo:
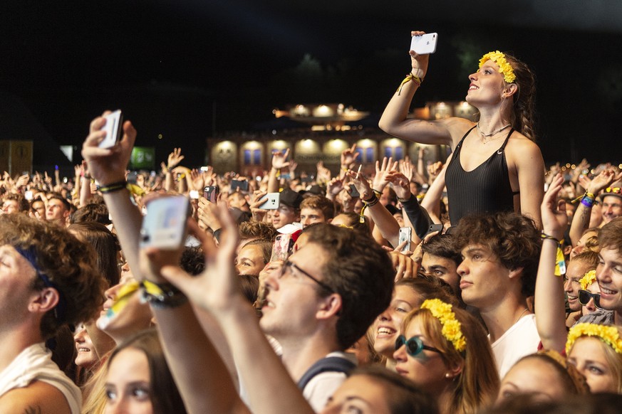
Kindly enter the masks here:
[[71, 413], [80, 414], [82, 393], [52, 361], [52, 353], [45, 344], [34, 344], [21, 351], [13, 361], [0, 372], [0, 396], [14, 388], [26, 387], [33, 381], [42, 381], [63, 393]]

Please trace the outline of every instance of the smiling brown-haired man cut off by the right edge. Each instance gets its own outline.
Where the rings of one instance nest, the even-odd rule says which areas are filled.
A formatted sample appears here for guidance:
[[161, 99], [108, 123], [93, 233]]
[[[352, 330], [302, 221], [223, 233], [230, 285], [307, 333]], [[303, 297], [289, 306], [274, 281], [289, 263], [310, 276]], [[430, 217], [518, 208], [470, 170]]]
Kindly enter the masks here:
[[598, 245], [596, 280], [604, 310], [585, 315], [579, 322], [622, 325], [622, 217], [603, 225], [598, 231]]

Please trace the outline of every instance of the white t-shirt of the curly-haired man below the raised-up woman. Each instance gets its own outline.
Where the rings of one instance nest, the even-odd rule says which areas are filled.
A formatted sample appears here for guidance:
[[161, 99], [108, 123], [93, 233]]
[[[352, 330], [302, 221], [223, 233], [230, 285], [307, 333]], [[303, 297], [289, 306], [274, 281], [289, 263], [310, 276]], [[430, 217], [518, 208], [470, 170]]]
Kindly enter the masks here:
[[522, 317], [491, 344], [494, 361], [497, 363], [499, 378], [503, 378], [523, 356], [538, 351], [540, 336], [536, 327], [536, 315]]

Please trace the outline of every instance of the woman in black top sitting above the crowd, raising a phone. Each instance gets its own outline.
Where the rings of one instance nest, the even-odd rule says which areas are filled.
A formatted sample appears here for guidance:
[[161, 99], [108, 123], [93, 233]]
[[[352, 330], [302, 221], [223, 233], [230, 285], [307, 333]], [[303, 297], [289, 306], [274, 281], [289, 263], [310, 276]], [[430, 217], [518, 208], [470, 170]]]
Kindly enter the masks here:
[[487, 53], [469, 76], [466, 97], [480, 111], [479, 122], [457, 117], [415, 120], [406, 116], [427, 73], [429, 55], [410, 51], [410, 58], [413, 70], [391, 98], [379, 126], [395, 137], [452, 148], [445, 175], [452, 225], [468, 213], [513, 210], [541, 227], [544, 160], [534, 142], [531, 70], [511, 55]]

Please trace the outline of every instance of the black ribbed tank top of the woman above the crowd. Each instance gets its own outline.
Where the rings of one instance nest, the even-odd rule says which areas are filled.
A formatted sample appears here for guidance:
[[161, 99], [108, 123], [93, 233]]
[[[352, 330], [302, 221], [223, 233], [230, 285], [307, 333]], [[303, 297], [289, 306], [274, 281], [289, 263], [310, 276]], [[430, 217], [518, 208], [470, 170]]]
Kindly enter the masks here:
[[457, 225], [460, 218], [470, 213], [514, 211], [514, 193], [512, 193], [512, 184], [509, 182], [504, 154], [505, 146], [514, 129], [509, 130], [502, 146], [492, 153], [489, 159], [473, 171], [465, 171], [460, 163], [460, 149], [462, 142], [473, 128], [460, 139], [445, 171], [452, 225]]

